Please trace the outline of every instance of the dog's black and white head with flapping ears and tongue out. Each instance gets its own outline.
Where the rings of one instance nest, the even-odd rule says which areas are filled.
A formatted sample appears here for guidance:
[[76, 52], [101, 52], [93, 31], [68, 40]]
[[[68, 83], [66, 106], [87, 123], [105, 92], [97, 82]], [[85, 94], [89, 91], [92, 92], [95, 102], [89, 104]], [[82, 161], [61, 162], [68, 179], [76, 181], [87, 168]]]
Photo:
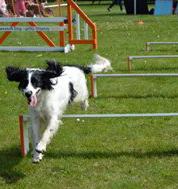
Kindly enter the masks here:
[[6, 68], [8, 80], [19, 83], [19, 90], [32, 107], [37, 105], [37, 97], [41, 91], [53, 89], [53, 78], [59, 77], [63, 72], [62, 66], [55, 61], [47, 61], [47, 64], [46, 69], [20, 69], [13, 66]]

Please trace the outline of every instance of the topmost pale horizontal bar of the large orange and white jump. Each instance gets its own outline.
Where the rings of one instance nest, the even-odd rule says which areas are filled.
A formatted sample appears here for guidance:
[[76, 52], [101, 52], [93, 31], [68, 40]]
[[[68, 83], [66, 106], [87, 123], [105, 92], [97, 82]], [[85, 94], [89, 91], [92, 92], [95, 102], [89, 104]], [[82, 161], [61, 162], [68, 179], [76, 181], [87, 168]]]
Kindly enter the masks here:
[[0, 22], [64, 22], [65, 17], [1, 17]]

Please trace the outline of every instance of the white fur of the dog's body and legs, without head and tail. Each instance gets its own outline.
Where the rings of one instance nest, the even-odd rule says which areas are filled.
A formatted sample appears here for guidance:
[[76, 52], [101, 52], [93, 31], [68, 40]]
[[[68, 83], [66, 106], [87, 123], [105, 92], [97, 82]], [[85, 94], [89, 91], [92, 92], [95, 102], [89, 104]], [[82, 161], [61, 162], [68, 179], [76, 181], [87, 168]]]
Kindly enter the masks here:
[[[86, 86], [85, 75], [82, 70], [76, 67], [64, 67], [62, 76], [53, 79], [53, 90], [41, 91], [38, 96], [38, 104], [36, 107], [30, 108], [30, 117], [32, 118], [33, 137], [36, 146], [36, 151], [46, 151], [47, 144], [58, 130], [61, 123], [62, 114], [67, 108], [70, 91], [69, 82], [73, 83], [74, 89], [77, 91], [77, 96], [74, 102], [80, 102], [83, 109], [88, 107], [88, 90]], [[29, 87], [31, 87], [29, 83]], [[39, 127], [40, 123], [44, 124], [46, 129], [40, 139]], [[42, 158], [41, 154], [34, 152], [33, 161], [38, 162]]]

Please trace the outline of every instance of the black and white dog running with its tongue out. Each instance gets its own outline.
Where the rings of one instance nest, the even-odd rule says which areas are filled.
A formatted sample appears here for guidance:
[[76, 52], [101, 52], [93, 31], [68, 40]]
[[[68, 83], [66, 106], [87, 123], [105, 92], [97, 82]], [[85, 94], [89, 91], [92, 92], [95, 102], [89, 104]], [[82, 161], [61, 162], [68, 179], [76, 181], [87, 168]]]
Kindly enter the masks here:
[[[88, 89], [85, 74], [111, 70], [106, 58], [96, 55], [89, 66], [62, 66], [56, 61], [47, 61], [46, 69], [6, 68], [9, 81], [19, 82], [19, 90], [27, 97], [32, 121], [35, 150], [33, 162], [39, 162], [47, 144], [58, 130], [63, 112], [71, 102], [80, 102], [88, 108]], [[44, 127], [40, 136], [39, 130]]]

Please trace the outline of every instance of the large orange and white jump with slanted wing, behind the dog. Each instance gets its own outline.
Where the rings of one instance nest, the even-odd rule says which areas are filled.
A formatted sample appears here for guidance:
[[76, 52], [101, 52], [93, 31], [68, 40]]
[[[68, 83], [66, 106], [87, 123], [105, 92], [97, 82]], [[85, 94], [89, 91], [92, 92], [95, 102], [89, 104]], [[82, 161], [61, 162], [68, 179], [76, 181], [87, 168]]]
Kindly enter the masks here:
[[[87, 27], [91, 29], [91, 38], [80, 39], [75, 38], [74, 35], [74, 23], [73, 23], [73, 11], [75, 11], [80, 19], [87, 24]], [[79, 19], [78, 18], [78, 19]], [[58, 27], [52, 26], [38, 26], [37, 23], [57, 23]], [[93, 49], [97, 49], [97, 30], [96, 25], [90, 18], [78, 7], [78, 5], [72, 0], [67, 0], [67, 17], [53, 17], [53, 18], [0, 18], [0, 23], [11, 23], [10, 26], [1, 26], [0, 31], [4, 33], [0, 37], [0, 50], [1, 51], [63, 51], [69, 52], [73, 50], [73, 46], [76, 44], [91, 44]], [[18, 26], [20, 23], [27, 23], [29, 27]], [[79, 23], [79, 21], [77, 22]], [[78, 26], [77, 26], [78, 27]], [[79, 32], [79, 27], [77, 31]], [[38, 35], [47, 43], [45, 47], [36, 46], [4, 46], [5, 40], [12, 32], [37, 32]], [[58, 44], [55, 44], [45, 31], [57, 31], [59, 32]], [[88, 30], [85, 30], [85, 33]], [[65, 39], [65, 36], [67, 38]], [[89, 36], [85, 34], [85, 36]], [[67, 44], [66, 44], [67, 41]]]

